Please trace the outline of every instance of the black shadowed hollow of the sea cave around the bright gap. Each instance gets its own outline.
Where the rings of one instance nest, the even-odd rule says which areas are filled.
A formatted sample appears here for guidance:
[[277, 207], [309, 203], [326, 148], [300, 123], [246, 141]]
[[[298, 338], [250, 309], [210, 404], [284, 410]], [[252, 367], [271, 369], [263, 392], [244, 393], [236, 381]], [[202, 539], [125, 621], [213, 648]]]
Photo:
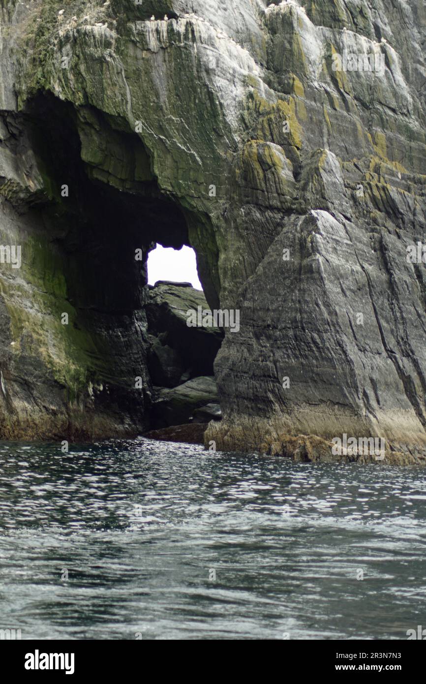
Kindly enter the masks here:
[[[64, 275], [72, 326], [90, 340], [83, 350], [90, 382], [108, 388], [107, 396], [95, 392], [95, 404], [150, 428], [161, 386], [212, 377], [223, 339], [220, 330], [185, 327], [167, 302], [152, 303], [148, 252], [157, 242], [191, 246], [187, 217], [160, 191], [144, 144], [125, 122], [49, 93], [37, 94], [23, 116], [43, 187], [24, 211], [41, 217], [46, 268]], [[167, 377], [159, 372], [166, 353], [165, 365], [176, 366]], [[137, 377], [142, 391], [129, 399]]]

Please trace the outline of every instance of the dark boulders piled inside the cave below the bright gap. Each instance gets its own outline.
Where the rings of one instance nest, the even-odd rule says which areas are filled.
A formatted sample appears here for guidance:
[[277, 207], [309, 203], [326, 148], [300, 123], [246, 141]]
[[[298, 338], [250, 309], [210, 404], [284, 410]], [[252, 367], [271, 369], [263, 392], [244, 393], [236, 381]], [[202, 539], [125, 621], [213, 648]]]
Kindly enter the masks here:
[[148, 370], [154, 385], [153, 430], [191, 422], [200, 425], [222, 417], [213, 363], [223, 332], [187, 326], [187, 312], [198, 306], [209, 309], [204, 293], [189, 282], [163, 280], [150, 286], [146, 317]]

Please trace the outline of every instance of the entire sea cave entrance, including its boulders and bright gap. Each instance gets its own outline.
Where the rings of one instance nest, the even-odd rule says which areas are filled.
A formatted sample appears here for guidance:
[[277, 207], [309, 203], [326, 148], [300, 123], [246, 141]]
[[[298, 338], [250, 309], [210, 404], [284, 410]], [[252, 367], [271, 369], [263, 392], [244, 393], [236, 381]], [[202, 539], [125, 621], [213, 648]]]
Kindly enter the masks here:
[[[198, 279], [188, 234], [196, 217], [161, 191], [148, 150], [124, 120], [49, 93], [24, 116], [42, 176], [27, 209], [42, 250], [43, 298], [53, 319], [69, 319], [45, 325], [53, 365], [65, 350], [58, 382], [70, 432], [108, 437], [217, 418], [213, 363], [223, 331], [187, 325], [188, 311], [211, 308], [202, 285], [217, 298], [200, 251]], [[148, 283], [159, 249], [187, 259], [185, 282]], [[153, 277], [171, 274], [166, 265]]]

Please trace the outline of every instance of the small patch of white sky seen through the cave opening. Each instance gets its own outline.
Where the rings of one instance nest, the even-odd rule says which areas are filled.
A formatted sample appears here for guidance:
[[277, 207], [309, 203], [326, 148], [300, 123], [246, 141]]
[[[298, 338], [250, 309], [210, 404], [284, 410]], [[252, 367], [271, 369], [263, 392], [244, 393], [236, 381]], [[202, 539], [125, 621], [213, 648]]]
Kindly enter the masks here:
[[174, 250], [157, 244], [148, 254], [148, 284], [155, 285], [157, 280], [191, 282], [192, 287], [202, 290], [194, 250], [186, 245], [181, 250]]

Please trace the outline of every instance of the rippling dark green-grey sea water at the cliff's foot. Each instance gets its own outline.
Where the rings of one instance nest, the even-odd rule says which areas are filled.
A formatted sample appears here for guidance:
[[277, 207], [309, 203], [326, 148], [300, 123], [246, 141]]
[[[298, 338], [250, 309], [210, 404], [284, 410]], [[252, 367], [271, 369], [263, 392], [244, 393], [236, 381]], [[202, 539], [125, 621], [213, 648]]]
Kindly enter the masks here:
[[145, 439], [0, 443], [0, 628], [406, 639], [426, 627], [425, 479]]

